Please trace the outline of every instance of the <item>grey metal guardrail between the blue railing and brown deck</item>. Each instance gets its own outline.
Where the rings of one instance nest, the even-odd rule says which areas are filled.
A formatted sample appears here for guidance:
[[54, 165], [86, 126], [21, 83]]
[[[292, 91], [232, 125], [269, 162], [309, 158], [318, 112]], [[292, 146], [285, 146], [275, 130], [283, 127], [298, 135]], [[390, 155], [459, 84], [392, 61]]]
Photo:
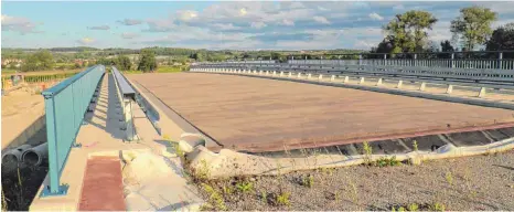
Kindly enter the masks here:
[[116, 96], [118, 97], [117, 107], [121, 107], [122, 115], [119, 118], [121, 121], [121, 130], [126, 132], [126, 139], [132, 141], [137, 139], [136, 128], [133, 127], [132, 102], [136, 100], [136, 91], [130, 86], [125, 76], [113, 66], [113, 78], [116, 86]]

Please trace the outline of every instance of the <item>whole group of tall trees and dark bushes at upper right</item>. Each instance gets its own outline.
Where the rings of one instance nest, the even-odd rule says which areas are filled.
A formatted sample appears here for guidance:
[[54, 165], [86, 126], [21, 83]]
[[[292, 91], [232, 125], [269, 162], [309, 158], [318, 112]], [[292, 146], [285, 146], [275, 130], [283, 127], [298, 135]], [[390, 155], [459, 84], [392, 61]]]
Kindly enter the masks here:
[[[396, 14], [383, 30], [386, 36], [372, 47], [372, 53], [385, 53], [390, 56], [408, 56], [414, 52], [456, 52], [474, 51], [482, 46], [482, 51], [514, 50], [514, 23], [501, 25], [493, 30], [491, 24], [497, 20], [497, 13], [489, 8], [469, 7], [460, 10], [450, 24], [451, 40], [439, 44], [428, 41], [428, 32], [438, 19], [427, 11], [410, 10]], [[461, 46], [456, 47], [456, 46]], [[439, 47], [440, 46], [440, 47]], [[376, 55], [377, 57], [379, 55]], [[411, 56], [411, 55], [410, 55]], [[438, 57], [449, 57], [440, 54]], [[512, 57], [505, 53], [504, 57]]]

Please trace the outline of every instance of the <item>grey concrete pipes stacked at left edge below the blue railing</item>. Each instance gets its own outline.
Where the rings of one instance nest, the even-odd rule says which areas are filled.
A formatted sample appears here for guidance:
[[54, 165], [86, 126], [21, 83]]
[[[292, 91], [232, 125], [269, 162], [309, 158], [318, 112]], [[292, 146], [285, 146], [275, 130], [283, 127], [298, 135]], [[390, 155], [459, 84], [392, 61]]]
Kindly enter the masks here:
[[[18, 165], [25, 163], [29, 166], [41, 166], [49, 157], [47, 142], [32, 147], [30, 145], [22, 145], [18, 148], [11, 149], [3, 153], [3, 162], [18, 162]], [[3, 163], [2, 162], [2, 163]]]

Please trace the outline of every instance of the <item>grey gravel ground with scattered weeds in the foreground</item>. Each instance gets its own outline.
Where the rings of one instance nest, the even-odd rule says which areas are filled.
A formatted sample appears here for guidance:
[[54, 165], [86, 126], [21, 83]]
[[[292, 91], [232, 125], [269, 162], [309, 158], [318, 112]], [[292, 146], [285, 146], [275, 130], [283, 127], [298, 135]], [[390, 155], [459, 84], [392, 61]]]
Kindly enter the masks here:
[[[307, 176], [313, 179], [310, 188], [302, 184], [302, 179], [309, 179]], [[251, 182], [251, 191], [238, 189], [242, 181]], [[281, 177], [231, 179], [210, 184], [231, 211], [390, 210], [393, 205], [410, 203], [417, 203], [420, 210], [428, 210], [427, 206], [436, 202], [442, 203], [447, 211], [512, 211], [514, 150], [427, 161], [420, 166], [356, 166], [292, 172]], [[205, 187], [200, 190], [206, 200], [208, 197], [215, 199], [213, 192], [205, 192]], [[263, 193], [266, 193], [266, 201]], [[289, 205], [276, 204], [279, 193], [290, 194]]]

